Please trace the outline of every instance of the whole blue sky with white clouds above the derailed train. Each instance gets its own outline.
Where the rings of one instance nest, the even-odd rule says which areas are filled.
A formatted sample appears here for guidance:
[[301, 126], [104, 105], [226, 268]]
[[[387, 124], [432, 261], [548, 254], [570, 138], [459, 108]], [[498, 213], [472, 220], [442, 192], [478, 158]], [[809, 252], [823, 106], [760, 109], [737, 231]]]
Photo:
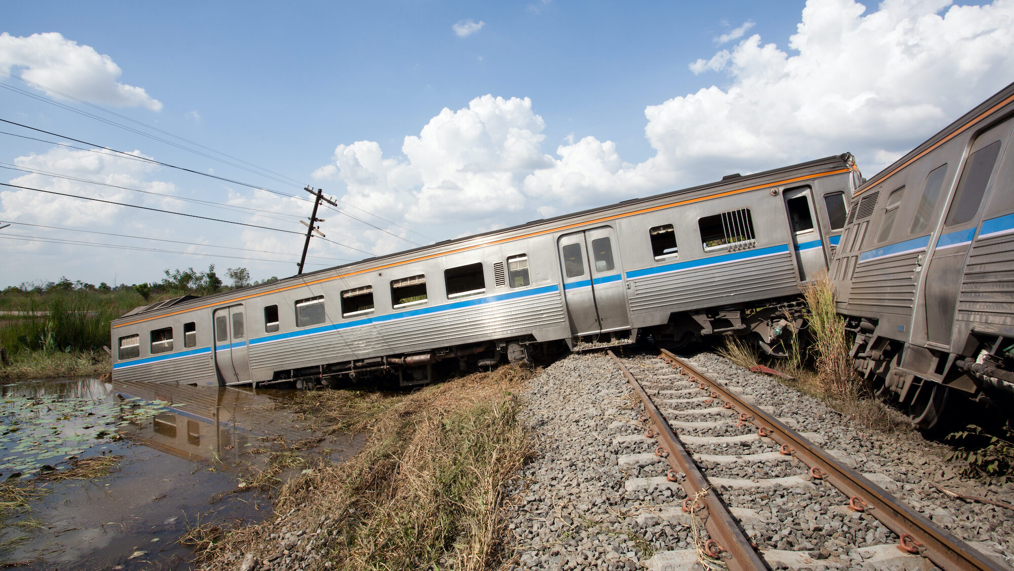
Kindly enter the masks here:
[[[865, 10], [848, 0], [20, 3], [5, 6], [0, 71], [59, 81], [65, 93], [298, 185], [6, 89], [0, 119], [285, 193], [321, 187], [386, 220], [350, 210], [383, 232], [335, 212], [321, 215], [329, 236], [356, 249], [317, 240], [311, 254], [357, 259], [413, 245], [392, 234], [427, 241], [405, 228], [445, 239], [845, 151], [872, 173], [1014, 80], [1012, 12], [1011, 2], [956, 7], [940, 0]], [[477, 24], [469, 34], [452, 28], [469, 20]], [[730, 33], [737, 28], [741, 34]], [[45, 47], [29, 42], [45, 32], [60, 35]], [[74, 59], [85, 47], [122, 71], [105, 87], [117, 81], [146, 95], [110, 95], [94, 62]], [[63, 57], [74, 63], [47, 69]], [[98, 113], [16, 78], [0, 74], [0, 83]], [[228, 201], [284, 220], [40, 173], [0, 170], [0, 182], [294, 230], [301, 228], [295, 217], [308, 215], [302, 202], [137, 161], [102, 157], [96, 164], [93, 154], [0, 135], [5, 163]], [[278, 253], [243, 256], [289, 262], [302, 245], [294, 234], [237, 232], [122, 207], [89, 211], [74, 206], [79, 202], [0, 188], [0, 219], [228, 244]], [[0, 233], [157, 243], [17, 224]], [[64, 275], [136, 283], [156, 280], [162, 269], [211, 263], [248, 267], [256, 279], [295, 270], [10, 239], [0, 240], [0, 287]], [[320, 264], [311, 269], [337, 263], [311, 262]]]

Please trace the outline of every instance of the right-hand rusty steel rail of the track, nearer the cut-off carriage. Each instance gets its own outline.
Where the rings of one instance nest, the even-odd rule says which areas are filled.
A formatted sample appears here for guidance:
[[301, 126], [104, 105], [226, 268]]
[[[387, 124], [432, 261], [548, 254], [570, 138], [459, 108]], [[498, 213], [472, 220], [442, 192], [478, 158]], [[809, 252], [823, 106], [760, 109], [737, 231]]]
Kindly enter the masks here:
[[[682, 367], [691, 376], [702, 383], [707, 383], [709, 390], [718, 392], [722, 399], [732, 403], [737, 412], [752, 416], [753, 420], [750, 422], [770, 430], [772, 432], [770, 438], [779, 444], [790, 446], [792, 454], [803, 463], [823, 472], [822, 479], [848, 496], [850, 504], [877, 518], [898, 537], [908, 536], [918, 542], [918, 547], [924, 548], [920, 550], [921, 555], [940, 568], [945, 571], [1009, 571], [888, 494], [862, 474], [838, 461], [772, 415], [739, 398], [722, 383], [704, 375], [669, 351], [661, 349], [661, 352], [666, 359]], [[854, 502], [853, 499], [858, 502]]]

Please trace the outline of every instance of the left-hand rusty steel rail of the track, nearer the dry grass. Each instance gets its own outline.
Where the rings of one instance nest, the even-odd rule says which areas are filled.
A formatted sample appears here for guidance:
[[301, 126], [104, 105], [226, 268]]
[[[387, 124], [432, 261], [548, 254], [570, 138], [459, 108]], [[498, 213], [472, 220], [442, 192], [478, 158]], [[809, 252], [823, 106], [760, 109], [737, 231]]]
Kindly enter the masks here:
[[[669, 453], [666, 458], [669, 460], [669, 465], [685, 475], [680, 485], [686, 491], [687, 498], [695, 498], [703, 491], [711, 488], [711, 484], [705, 479], [704, 474], [701, 474], [697, 463], [694, 462], [685, 446], [683, 446], [682, 442], [679, 441], [679, 438], [672, 431], [668, 421], [665, 420], [665, 416], [655, 406], [651, 397], [648, 396], [644, 387], [641, 386], [641, 383], [634, 378], [634, 375], [624, 366], [617, 355], [612, 351], [607, 351], [607, 353], [609, 357], [612, 357], [612, 360], [620, 367], [627, 380], [630, 381], [631, 386], [634, 387], [638, 397], [641, 398], [641, 402], [644, 403], [645, 413], [658, 428], [658, 441], [662, 443], [662, 447]], [[760, 557], [757, 556], [753, 547], [750, 546], [749, 540], [739, 530], [736, 520], [732, 517], [728, 506], [725, 505], [722, 499], [717, 494], [707, 493], [703, 495], [702, 503], [704, 504], [703, 509], [694, 511], [693, 514], [698, 514], [701, 517], [705, 528], [708, 529], [708, 533], [728, 554], [729, 558], [723, 558], [723, 561], [730, 571], [766, 571], [768, 567], [760, 560]]]

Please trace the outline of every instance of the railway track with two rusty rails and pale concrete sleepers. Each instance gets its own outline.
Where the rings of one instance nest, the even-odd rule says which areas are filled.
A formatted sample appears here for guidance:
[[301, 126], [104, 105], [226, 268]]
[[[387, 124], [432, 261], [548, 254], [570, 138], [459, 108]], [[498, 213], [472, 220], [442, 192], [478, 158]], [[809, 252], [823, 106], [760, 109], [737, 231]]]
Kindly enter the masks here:
[[[884, 540], [880, 545], [850, 550], [857, 562], [892, 569], [936, 566], [944, 571], [1006, 570], [873, 481], [884, 483], [884, 480], [860, 474], [821, 449], [815, 443], [819, 435], [796, 431], [789, 426], [791, 419], [775, 418], [735, 387], [707, 377], [675, 355], [662, 350], [654, 368], [648, 367], [640, 379], [631, 373], [623, 359], [611, 351], [608, 355], [643, 407], [640, 420], [645, 425], [645, 434], [629, 435], [622, 440], [628, 444], [643, 442], [649, 449], [654, 447], [653, 452], [626, 454], [619, 459], [620, 463], [645, 466], [664, 458], [671, 467], [665, 476], [631, 479], [625, 486], [628, 491], [681, 488], [686, 498], [682, 506], [668, 508], [658, 517], [689, 522], [695, 529], [693, 549], [656, 553], [647, 562], [649, 568], [693, 569], [700, 564], [705, 569], [736, 571], [816, 569], [848, 564], [841, 555], [830, 553], [821, 552], [824, 559], [820, 559], [807, 551], [757, 549], [744, 526], [760, 517], [757, 508], [762, 506], [754, 501], [751, 508], [730, 507], [741, 503], [744, 495], [763, 502], [777, 497], [777, 493], [769, 490], [801, 488], [836, 494], [842, 500], [836, 509], [857, 526], [872, 524], [864, 520], [875, 518], [890, 530], [891, 533], [878, 531], [877, 537]], [[645, 365], [639, 368], [644, 369]], [[738, 434], [709, 434], [729, 425], [737, 428], [734, 432]], [[702, 453], [700, 449], [711, 446], [707, 451], [718, 451], [713, 449], [716, 445], [731, 445], [736, 450], [743, 444], [747, 444], [744, 453]], [[687, 445], [698, 448], [698, 452]], [[727, 477], [730, 467], [744, 463], [766, 468], [755, 469], [762, 474], [751, 474], [755, 476], [752, 478]], [[886, 541], [889, 534], [895, 538], [894, 543]]]

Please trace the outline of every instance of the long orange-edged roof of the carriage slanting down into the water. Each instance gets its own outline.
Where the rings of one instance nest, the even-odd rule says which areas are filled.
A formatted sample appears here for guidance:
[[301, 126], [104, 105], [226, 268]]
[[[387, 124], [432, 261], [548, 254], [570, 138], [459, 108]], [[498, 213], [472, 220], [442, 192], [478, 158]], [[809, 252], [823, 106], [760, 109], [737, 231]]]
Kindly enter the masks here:
[[230, 298], [233, 297], [248, 297], [249, 294], [255, 293], [258, 290], [271, 291], [281, 288], [287, 288], [287, 286], [294, 286], [305, 282], [315, 281], [316, 279], [319, 279], [321, 276], [324, 276], [330, 273], [337, 272], [338, 274], [342, 274], [350, 270], [355, 270], [357, 267], [362, 265], [368, 265], [368, 266], [384, 265], [385, 263], [391, 263], [399, 260], [408, 262], [413, 256], [419, 255], [424, 252], [434, 252], [441, 249], [453, 251], [457, 246], [467, 244], [469, 242], [482, 242], [484, 238], [489, 238], [491, 236], [501, 236], [501, 235], [509, 236], [511, 234], [521, 234], [527, 230], [531, 230], [536, 227], [559, 224], [565, 221], [580, 220], [582, 218], [594, 218], [596, 214], [603, 214], [610, 211], [614, 212], [634, 211], [646, 204], [650, 204], [652, 202], [657, 202], [660, 200], [671, 199], [673, 197], [691, 198], [694, 197], [695, 195], [714, 194], [714, 191], [719, 189], [735, 191], [739, 189], [746, 189], [753, 186], [762, 186], [762, 187], [768, 185], [775, 186], [784, 182], [783, 181], [784, 177], [782, 175], [785, 174], [786, 172], [800, 171], [805, 176], [811, 176], [825, 171], [829, 166], [837, 166], [840, 168], [853, 168], [854, 165], [855, 165], [855, 158], [852, 156], [851, 153], [847, 152], [840, 155], [827, 156], [823, 158], [809, 160], [806, 162], [792, 164], [789, 166], [773, 168], [762, 172], [754, 172], [751, 174], [745, 174], [745, 175], [741, 175], [739, 173], [729, 174], [723, 176], [721, 181], [717, 181], [714, 183], [708, 183], [705, 185], [699, 185], [697, 187], [690, 187], [686, 189], [680, 189], [676, 191], [669, 191], [666, 193], [660, 193], [649, 197], [628, 199], [606, 206], [600, 206], [596, 208], [582, 210], [579, 212], [563, 214], [552, 218], [532, 220], [530, 222], [526, 222], [524, 224], [518, 224], [516, 226], [511, 226], [508, 228], [491, 230], [488, 232], [482, 232], [479, 234], [473, 234], [460, 238], [446, 239], [432, 244], [422, 245], [412, 249], [397, 252], [394, 254], [367, 258], [364, 260], [360, 260], [358, 262], [350, 262], [348, 264], [343, 264], [341, 266], [334, 266], [321, 270], [314, 270], [313, 272], [308, 272], [297, 276], [291, 276], [288, 278], [282, 278], [278, 281], [270, 282], [267, 284], [246, 286], [242, 288], [232, 289], [221, 293], [215, 293], [212, 295], [201, 296], [201, 297], [183, 296], [173, 299], [168, 299], [165, 301], [159, 301], [156, 303], [152, 303], [150, 305], [137, 307], [131, 310], [130, 312], [125, 313], [124, 315], [118, 317], [117, 319], [114, 319], [113, 325], [117, 326], [119, 322], [123, 319], [126, 319], [128, 317], [137, 317], [142, 313], [146, 314], [144, 319], [148, 319], [157, 316], [158, 314], [161, 313], [176, 312], [182, 309], [188, 309], [197, 306], [205, 306], [209, 304], [217, 304], [217, 300], [222, 300], [224, 302], [228, 301]]

